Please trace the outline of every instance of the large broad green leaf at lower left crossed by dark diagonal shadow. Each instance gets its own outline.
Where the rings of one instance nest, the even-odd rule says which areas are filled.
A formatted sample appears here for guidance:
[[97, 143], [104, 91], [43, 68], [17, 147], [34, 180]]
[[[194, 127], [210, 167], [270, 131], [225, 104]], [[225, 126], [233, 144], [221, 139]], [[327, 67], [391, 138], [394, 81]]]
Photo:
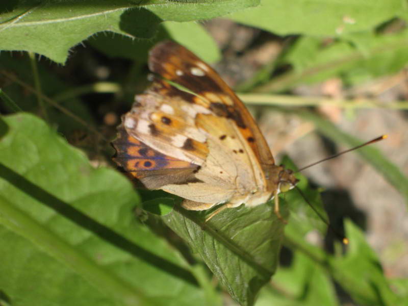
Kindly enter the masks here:
[[2, 296], [13, 305], [207, 303], [180, 254], [136, 221], [140, 200], [125, 177], [92, 168], [33, 115], [4, 121]]

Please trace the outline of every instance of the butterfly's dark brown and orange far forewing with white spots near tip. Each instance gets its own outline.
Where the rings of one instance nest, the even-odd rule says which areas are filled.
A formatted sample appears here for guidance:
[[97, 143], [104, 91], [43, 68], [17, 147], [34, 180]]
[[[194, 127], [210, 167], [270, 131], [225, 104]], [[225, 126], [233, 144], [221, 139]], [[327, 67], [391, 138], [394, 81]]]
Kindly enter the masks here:
[[[149, 68], [163, 78], [173, 81], [188, 90], [208, 99], [211, 105], [206, 105], [218, 116], [234, 120], [240, 128], [244, 139], [260, 161], [261, 167], [274, 164], [269, 147], [262, 136], [257, 124], [249, 114], [242, 101], [234, 91], [226, 85], [218, 73], [209, 65], [201, 61], [185, 47], [173, 42], [164, 41], [150, 50]], [[199, 97], [188, 94], [186, 100]], [[202, 102], [202, 101], [201, 101]]]

